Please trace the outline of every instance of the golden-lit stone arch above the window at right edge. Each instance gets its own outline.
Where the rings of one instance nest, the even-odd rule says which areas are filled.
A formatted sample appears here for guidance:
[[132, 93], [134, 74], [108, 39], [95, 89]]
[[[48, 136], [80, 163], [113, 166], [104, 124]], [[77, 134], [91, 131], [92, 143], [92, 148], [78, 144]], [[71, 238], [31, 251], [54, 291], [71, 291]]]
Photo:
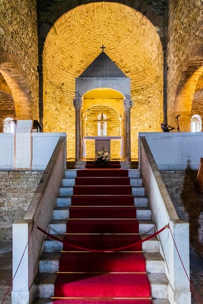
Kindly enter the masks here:
[[196, 102], [194, 108], [194, 101], [197, 101], [198, 96], [202, 96], [201, 90], [198, 92], [198, 83], [203, 75], [202, 48], [191, 51], [189, 60], [182, 64], [182, 70], [183, 73], [176, 90], [172, 115], [175, 117], [180, 114], [180, 131], [189, 132], [191, 130], [190, 120], [192, 115], [199, 114], [199, 112], [203, 115], [203, 109], [201, 109], [203, 106], [201, 104], [199, 108]]

